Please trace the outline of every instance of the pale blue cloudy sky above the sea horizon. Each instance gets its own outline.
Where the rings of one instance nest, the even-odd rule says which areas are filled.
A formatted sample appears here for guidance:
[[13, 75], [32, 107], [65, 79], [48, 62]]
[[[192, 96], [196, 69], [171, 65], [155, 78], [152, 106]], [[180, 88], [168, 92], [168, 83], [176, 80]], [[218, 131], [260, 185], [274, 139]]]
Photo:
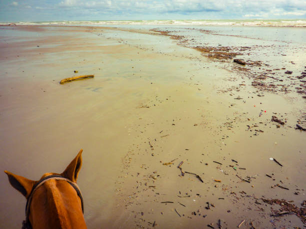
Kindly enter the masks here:
[[0, 21], [306, 19], [306, 0], [0, 0]]

